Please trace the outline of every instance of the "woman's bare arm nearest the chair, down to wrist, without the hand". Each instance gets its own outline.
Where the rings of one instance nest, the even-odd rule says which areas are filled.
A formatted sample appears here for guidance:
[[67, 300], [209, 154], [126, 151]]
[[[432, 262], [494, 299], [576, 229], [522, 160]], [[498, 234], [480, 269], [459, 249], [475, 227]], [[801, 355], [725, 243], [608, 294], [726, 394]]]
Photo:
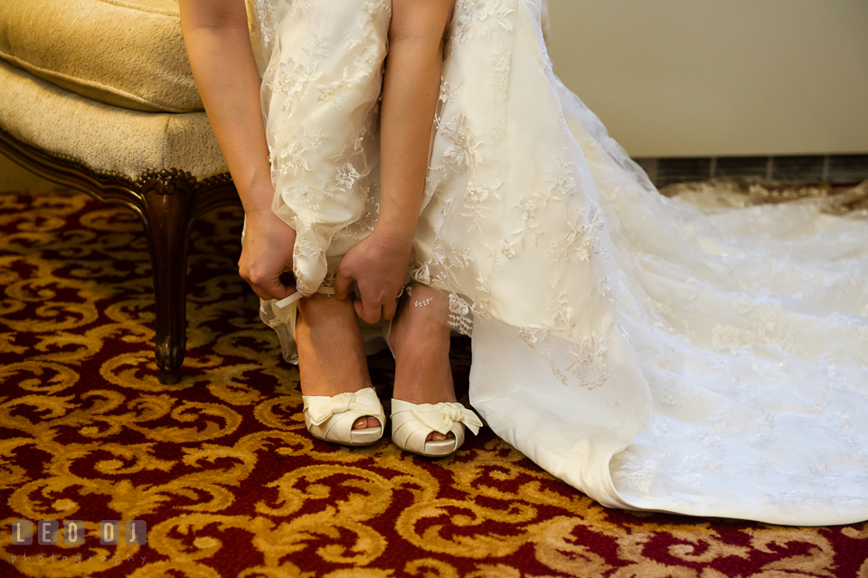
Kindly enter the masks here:
[[181, 0], [193, 78], [246, 213], [270, 211], [269, 149], [244, 0]]

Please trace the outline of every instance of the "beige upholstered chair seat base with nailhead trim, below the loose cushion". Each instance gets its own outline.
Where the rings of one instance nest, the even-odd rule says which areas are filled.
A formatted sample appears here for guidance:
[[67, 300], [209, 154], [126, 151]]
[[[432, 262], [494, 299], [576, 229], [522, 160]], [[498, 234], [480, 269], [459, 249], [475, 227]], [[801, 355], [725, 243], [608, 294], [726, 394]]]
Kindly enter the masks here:
[[94, 102], [2, 60], [0, 127], [33, 147], [132, 179], [149, 169], [177, 168], [200, 180], [228, 172], [204, 112]]

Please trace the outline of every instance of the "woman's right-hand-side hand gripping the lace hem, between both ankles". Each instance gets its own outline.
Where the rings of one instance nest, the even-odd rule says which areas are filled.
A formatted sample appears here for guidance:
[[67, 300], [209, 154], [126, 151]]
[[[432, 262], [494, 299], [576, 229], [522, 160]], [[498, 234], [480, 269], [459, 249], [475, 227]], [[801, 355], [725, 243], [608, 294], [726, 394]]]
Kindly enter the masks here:
[[398, 296], [407, 280], [412, 235], [374, 230], [358, 242], [341, 261], [335, 279], [338, 298], [346, 298], [355, 280], [362, 298], [355, 299], [355, 312], [367, 323], [392, 319]]

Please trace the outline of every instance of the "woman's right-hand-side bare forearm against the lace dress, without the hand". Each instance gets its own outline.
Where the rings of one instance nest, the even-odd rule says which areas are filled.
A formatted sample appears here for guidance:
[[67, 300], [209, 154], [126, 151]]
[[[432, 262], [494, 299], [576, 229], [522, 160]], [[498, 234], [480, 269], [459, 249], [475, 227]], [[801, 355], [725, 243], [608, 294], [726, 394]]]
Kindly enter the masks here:
[[377, 229], [411, 242], [428, 172], [431, 128], [453, 0], [394, 0], [382, 89]]

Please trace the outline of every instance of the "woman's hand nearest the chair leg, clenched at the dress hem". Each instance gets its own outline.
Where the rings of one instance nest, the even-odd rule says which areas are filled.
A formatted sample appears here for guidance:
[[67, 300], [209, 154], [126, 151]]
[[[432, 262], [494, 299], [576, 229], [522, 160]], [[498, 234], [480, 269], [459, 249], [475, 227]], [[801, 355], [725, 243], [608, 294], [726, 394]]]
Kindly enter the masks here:
[[292, 251], [296, 232], [271, 209], [245, 213], [244, 243], [238, 272], [263, 299], [287, 298], [296, 292], [280, 281], [292, 270]]

